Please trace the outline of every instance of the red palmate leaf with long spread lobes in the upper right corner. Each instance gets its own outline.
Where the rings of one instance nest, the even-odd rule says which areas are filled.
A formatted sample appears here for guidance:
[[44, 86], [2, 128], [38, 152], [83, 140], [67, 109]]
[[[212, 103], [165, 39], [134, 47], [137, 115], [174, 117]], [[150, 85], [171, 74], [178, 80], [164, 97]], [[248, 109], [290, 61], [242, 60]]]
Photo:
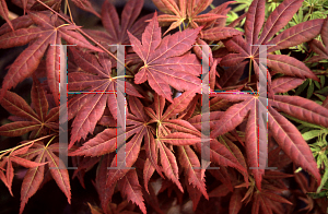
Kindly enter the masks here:
[[[225, 47], [231, 52], [237, 54], [226, 55], [222, 58], [220, 63], [225, 67], [237, 67], [236, 64], [239, 64], [245, 59], [250, 59], [255, 66], [255, 72], [258, 74], [259, 45], [273, 45], [269, 46], [267, 50], [267, 63], [269, 68], [285, 75], [317, 80], [317, 76], [303, 62], [284, 55], [271, 55], [271, 52], [313, 39], [319, 34], [324, 20], [319, 19], [303, 22], [285, 29], [272, 38], [272, 36], [274, 36], [292, 19], [293, 14], [302, 5], [302, 0], [283, 1], [269, 15], [266, 23], [265, 2], [265, 0], [253, 1], [246, 15], [244, 27], [245, 38], [242, 36], [235, 36], [224, 41]], [[263, 28], [260, 34], [262, 25]], [[237, 67], [236, 69], [244, 71], [244, 68], [245, 64], [243, 64], [243, 67]]]

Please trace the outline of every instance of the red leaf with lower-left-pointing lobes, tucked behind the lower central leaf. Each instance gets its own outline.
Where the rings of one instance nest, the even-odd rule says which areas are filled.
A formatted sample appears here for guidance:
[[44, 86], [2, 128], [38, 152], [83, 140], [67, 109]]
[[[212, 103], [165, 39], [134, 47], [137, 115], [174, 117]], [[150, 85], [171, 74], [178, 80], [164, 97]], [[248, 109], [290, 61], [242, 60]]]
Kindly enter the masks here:
[[[144, 114], [143, 105], [141, 102], [134, 97], [129, 98], [129, 106], [131, 114], [127, 116], [127, 131], [126, 139], [132, 136], [126, 144], [126, 165], [117, 166], [116, 156], [112, 160], [110, 167], [121, 167], [121, 169], [112, 169], [108, 171], [108, 177], [106, 183], [108, 187], [115, 186], [116, 181], [122, 178], [122, 176], [129, 170], [126, 167], [131, 167], [137, 160], [138, 154], [140, 152], [140, 145], [144, 138], [144, 146], [148, 152], [148, 156], [153, 163], [153, 159], [157, 159], [154, 153], [153, 134], [151, 132], [151, 127], [147, 123], [149, 122], [149, 117]], [[97, 134], [95, 138], [91, 139], [83, 144], [82, 147], [70, 153], [70, 155], [85, 155], [85, 156], [99, 156], [114, 152], [117, 147], [121, 147], [124, 142], [117, 142], [116, 129], [106, 129], [105, 131]], [[122, 163], [120, 163], [122, 164]], [[155, 167], [157, 165], [154, 165]], [[160, 168], [156, 167], [157, 171], [161, 173]]]

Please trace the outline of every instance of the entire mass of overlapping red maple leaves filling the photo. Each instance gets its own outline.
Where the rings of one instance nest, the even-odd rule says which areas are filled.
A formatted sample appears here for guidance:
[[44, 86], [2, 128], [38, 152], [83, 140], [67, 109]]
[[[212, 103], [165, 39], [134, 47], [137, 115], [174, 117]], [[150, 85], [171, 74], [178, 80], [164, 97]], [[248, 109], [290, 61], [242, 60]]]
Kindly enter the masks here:
[[[0, 152], [0, 179], [11, 194], [13, 166], [28, 168], [20, 213], [49, 180], [45, 174], [71, 202], [71, 179], [60, 154], [70, 156], [69, 164], [77, 167], [73, 178], [83, 187], [85, 173], [96, 168], [93, 183], [101, 203], [89, 204], [93, 213], [169, 212], [163, 209], [167, 204], [160, 201], [160, 193], [172, 191], [181, 210], [184, 194], [188, 194], [190, 212], [196, 213], [293, 213], [297, 199], [308, 204], [305, 210], [327, 209], [324, 200], [306, 198], [307, 192], [324, 187], [320, 173], [327, 168], [327, 158], [320, 153], [327, 146], [311, 145], [321, 158], [316, 162], [306, 133], [328, 128], [328, 98], [320, 105], [293, 92], [304, 81], [320, 80], [319, 86], [325, 88], [325, 75], [320, 73], [318, 79], [312, 64], [327, 60], [327, 19], [281, 32], [303, 1], [284, 0], [266, 20], [266, 1], [254, 0], [243, 33], [234, 28], [242, 19], [225, 25], [231, 2], [200, 14], [212, 0], [153, 0], [164, 13], [139, 17], [143, 1], [129, 0], [120, 19], [109, 1], [104, 2], [101, 14], [89, 1], [73, 2], [98, 16], [104, 31], [77, 26], [61, 13], [60, 1], [14, 1], [27, 13], [14, 20], [1, 1], [0, 14], [8, 22], [0, 27], [1, 48], [26, 45], [9, 66], [0, 97], [13, 121], [1, 126], [0, 134], [28, 133], [21, 144]], [[169, 27], [163, 33], [162, 26]], [[319, 34], [323, 44], [316, 39]], [[317, 56], [306, 64], [277, 55], [307, 41]], [[68, 118], [60, 117], [60, 122], [68, 122], [69, 145], [59, 140], [65, 130], [59, 128], [63, 111], [58, 56], [65, 44], [77, 45], [68, 49]], [[117, 44], [132, 46], [125, 47], [126, 63], [116, 59]], [[213, 44], [216, 46], [211, 48]], [[201, 112], [208, 84], [202, 81], [202, 63], [207, 60], [198, 45], [209, 50], [210, 112]], [[260, 45], [268, 46], [268, 71], [259, 62]], [[126, 75], [117, 75], [119, 63], [126, 67]], [[259, 75], [268, 76], [267, 98], [254, 92], [260, 87]], [[9, 91], [30, 76], [31, 105]], [[118, 80], [126, 81], [126, 105], [118, 102]], [[253, 93], [241, 93], [249, 90]], [[319, 98], [327, 96], [323, 92], [317, 92]], [[266, 131], [259, 127], [267, 126], [258, 115], [260, 109], [268, 112], [268, 159], [259, 144], [259, 131]], [[204, 121], [204, 116], [210, 120]], [[301, 133], [291, 120], [316, 129]], [[208, 141], [204, 123], [211, 131]], [[126, 155], [125, 160], [119, 154]], [[210, 156], [210, 162], [203, 155]], [[263, 162], [274, 168], [259, 168]], [[291, 163], [312, 176], [311, 185], [303, 174], [286, 174]], [[289, 190], [285, 178], [290, 177], [302, 191]], [[118, 192], [138, 209], [125, 200], [117, 205], [112, 199]]]

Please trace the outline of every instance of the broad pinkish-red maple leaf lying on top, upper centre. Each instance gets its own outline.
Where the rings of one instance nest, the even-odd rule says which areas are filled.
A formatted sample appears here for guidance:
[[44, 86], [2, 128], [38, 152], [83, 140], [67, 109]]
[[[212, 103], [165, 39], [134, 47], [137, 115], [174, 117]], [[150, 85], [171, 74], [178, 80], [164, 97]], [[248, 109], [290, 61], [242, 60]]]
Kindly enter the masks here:
[[169, 102], [169, 85], [178, 91], [200, 90], [201, 82], [197, 78], [201, 72], [200, 62], [195, 55], [186, 54], [195, 44], [199, 31], [186, 29], [162, 39], [155, 13], [142, 34], [142, 45], [128, 33], [133, 50], [144, 63], [136, 74], [134, 83], [141, 84], [148, 80], [150, 86]]

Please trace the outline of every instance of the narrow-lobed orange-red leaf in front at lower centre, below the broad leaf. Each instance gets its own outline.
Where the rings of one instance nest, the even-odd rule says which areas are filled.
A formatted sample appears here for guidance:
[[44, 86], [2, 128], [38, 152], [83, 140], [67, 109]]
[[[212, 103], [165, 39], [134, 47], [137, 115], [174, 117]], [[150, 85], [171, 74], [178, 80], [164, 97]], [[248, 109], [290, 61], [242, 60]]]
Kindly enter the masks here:
[[[165, 112], [164, 110], [164, 105], [165, 105], [165, 98], [160, 97], [155, 95], [154, 97], [154, 104], [152, 108], [147, 107], [144, 108], [147, 115], [140, 115], [140, 112], [143, 112], [142, 105], [138, 102], [138, 99], [132, 100], [131, 103], [131, 111], [134, 116], [138, 116], [141, 118], [143, 121], [143, 118], [149, 118], [147, 120], [147, 124], [149, 128], [147, 128], [147, 132], [142, 133], [139, 131], [139, 134], [142, 133], [144, 135], [144, 147], [145, 147], [145, 153], [147, 157], [149, 158], [150, 163], [152, 164], [152, 167], [156, 169], [157, 173], [163, 171], [168, 179], [174, 181], [177, 187], [183, 190], [183, 187], [180, 182], [178, 181], [178, 166], [177, 166], [177, 160], [175, 155], [171, 152], [171, 150], [166, 146], [165, 143], [171, 143], [175, 145], [190, 145], [195, 144], [197, 141], [200, 141], [200, 139], [197, 135], [194, 135], [191, 133], [197, 132], [197, 130], [189, 124], [187, 121], [184, 120], [178, 120], [178, 119], [171, 119], [172, 116], [183, 111], [189, 102], [195, 96], [195, 92], [185, 92], [183, 95], [174, 99], [174, 103], [166, 109]], [[138, 104], [139, 103], [139, 104]], [[136, 109], [136, 107], [138, 107]], [[155, 111], [153, 110], [155, 109]], [[137, 111], [138, 110], [138, 111]], [[132, 119], [132, 118], [131, 118]], [[137, 118], [136, 118], [137, 119]], [[137, 122], [134, 121], [136, 119], [131, 120], [130, 124], [136, 124]], [[129, 120], [129, 117], [128, 117]], [[142, 121], [141, 120], [141, 121]], [[133, 122], [134, 121], [134, 122]], [[157, 129], [156, 129], [156, 139], [153, 135], [153, 132], [151, 131], [151, 123], [157, 123]], [[144, 126], [143, 126], [144, 127]], [[142, 128], [144, 130], [144, 128]], [[171, 133], [171, 130], [177, 130], [178, 132]], [[139, 138], [139, 136], [138, 136]], [[142, 139], [142, 138], [139, 138]], [[191, 139], [191, 141], [190, 141]], [[174, 142], [174, 143], [173, 143]], [[126, 147], [126, 152], [129, 151], [129, 146], [132, 146], [132, 143], [128, 143]], [[136, 148], [137, 150], [137, 148]], [[159, 153], [160, 152], [160, 158], [159, 158]], [[134, 151], [132, 153], [127, 153], [127, 166], [130, 166], [128, 160], [128, 155], [131, 154], [131, 157], [133, 157], [133, 162], [136, 162], [134, 157], [138, 151]], [[133, 154], [133, 155], [132, 155]], [[157, 166], [157, 159], [161, 160], [162, 168]], [[149, 164], [150, 164], [149, 163]], [[116, 163], [113, 163], [113, 167], [115, 167]], [[131, 165], [132, 166], [132, 165]], [[113, 173], [112, 173], [113, 171]], [[118, 170], [112, 170], [109, 171], [109, 176], [113, 177], [108, 179], [107, 183], [113, 183], [113, 181], [116, 179], [118, 176], [121, 177], [127, 169], [118, 169]], [[154, 170], [152, 170], [153, 173]], [[147, 173], [147, 171], [144, 171]], [[120, 175], [121, 174], [121, 175]], [[145, 180], [145, 183], [148, 183], [151, 175], [147, 177], [148, 180]]]

